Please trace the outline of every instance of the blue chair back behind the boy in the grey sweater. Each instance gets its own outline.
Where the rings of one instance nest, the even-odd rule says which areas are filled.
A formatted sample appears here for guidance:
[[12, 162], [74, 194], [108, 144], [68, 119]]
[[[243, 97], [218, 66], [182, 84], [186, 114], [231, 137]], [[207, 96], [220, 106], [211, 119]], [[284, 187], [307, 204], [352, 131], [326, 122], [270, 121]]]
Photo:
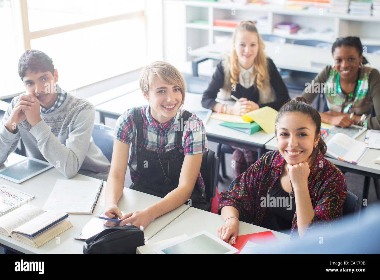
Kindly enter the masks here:
[[111, 162], [112, 149], [114, 148], [114, 129], [107, 125], [94, 123], [94, 130], [92, 131], [92, 139], [96, 146], [99, 147], [101, 152]]

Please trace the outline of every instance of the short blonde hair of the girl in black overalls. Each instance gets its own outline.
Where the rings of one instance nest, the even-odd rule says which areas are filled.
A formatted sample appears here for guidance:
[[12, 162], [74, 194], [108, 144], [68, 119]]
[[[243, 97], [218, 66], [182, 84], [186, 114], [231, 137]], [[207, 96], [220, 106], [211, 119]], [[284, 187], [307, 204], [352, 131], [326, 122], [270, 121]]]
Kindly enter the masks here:
[[148, 91], [152, 88], [155, 76], [168, 85], [179, 86], [182, 93], [182, 102], [179, 106], [181, 107], [185, 101], [186, 82], [177, 68], [165, 61], [155, 61], [144, 67], [141, 70], [139, 78], [140, 88], [142, 91], [148, 93]]

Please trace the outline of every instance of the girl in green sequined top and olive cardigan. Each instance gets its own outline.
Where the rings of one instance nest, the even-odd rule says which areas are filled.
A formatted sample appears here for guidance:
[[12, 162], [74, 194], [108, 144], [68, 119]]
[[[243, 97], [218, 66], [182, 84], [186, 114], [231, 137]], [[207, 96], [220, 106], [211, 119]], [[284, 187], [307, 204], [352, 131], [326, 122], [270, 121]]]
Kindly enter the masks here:
[[[337, 38], [331, 51], [334, 66], [326, 66], [302, 96], [311, 103], [320, 92], [325, 93], [328, 111], [320, 113], [322, 122], [380, 130], [380, 74], [364, 66], [368, 61], [360, 38]], [[371, 116], [372, 109], [376, 116]]]

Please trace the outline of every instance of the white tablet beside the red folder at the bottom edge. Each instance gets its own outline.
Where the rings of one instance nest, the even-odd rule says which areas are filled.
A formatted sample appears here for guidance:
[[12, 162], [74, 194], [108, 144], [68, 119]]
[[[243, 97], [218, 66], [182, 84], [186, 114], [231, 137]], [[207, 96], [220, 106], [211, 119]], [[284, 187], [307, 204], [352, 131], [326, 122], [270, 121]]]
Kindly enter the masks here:
[[234, 254], [239, 250], [203, 230], [154, 251], [157, 254]]

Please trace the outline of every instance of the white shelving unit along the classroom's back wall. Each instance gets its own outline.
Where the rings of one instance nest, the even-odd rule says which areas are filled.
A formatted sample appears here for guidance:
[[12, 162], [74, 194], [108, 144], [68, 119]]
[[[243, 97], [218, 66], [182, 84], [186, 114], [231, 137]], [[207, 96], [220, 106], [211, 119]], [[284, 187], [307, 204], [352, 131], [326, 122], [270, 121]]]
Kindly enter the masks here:
[[[232, 21], [252, 20], [266, 17], [268, 24], [265, 29], [258, 31], [260, 34], [275, 34], [272, 30], [275, 24], [282, 21], [297, 23], [301, 28], [310, 27], [316, 31], [331, 29], [331, 33], [321, 35], [315, 33], [278, 35], [291, 40], [321, 40], [334, 42], [337, 37], [358, 36], [363, 46], [380, 46], [380, 17], [376, 16], [353, 16], [350, 14], [333, 14], [328, 12], [308, 10], [290, 10], [280, 5], [247, 4], [237, 5], [234, 3], [220, 3], [207, 1], [163, 1], [164, 21], [177, 19], [176, 24], [165, 25], [164, 40], [168, 42], [173, 37], [185, 37], [184, 41], [177, 41], [176, 51], [165, 50], [165, 59], [169, 62], [179, 63], [193, 58], [191, 50], [201, 46], [220, 42], [223, 36], [231, 37], [234, 30], [232, 27], [214, 26], [214, 19], [227, 19]], [[178, 32], [184, 32], [185, 36]], [[182, 51], [183, 50], [183, 51]]]

